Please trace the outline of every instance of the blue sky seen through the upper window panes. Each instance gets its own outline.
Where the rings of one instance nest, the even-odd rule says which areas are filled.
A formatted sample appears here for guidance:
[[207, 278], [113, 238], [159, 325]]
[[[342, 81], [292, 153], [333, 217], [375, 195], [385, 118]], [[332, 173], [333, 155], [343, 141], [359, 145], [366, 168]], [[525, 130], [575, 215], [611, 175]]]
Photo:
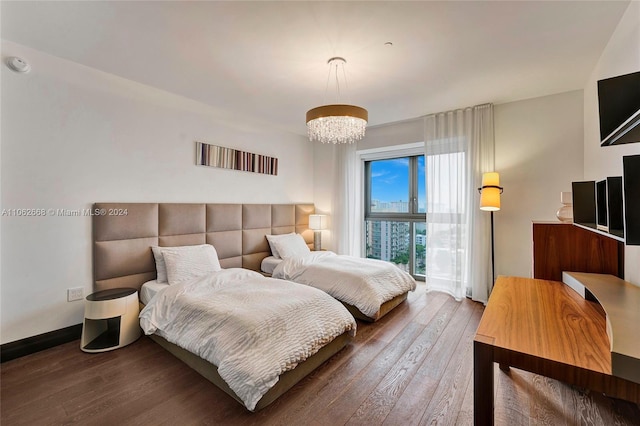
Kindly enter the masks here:
[[[418, 162], [420, 206], [424, 206], [424, 157]], [[371, 162], [371, 198], [380, 201], [407, 201], [409, 159], [395, 158]]]

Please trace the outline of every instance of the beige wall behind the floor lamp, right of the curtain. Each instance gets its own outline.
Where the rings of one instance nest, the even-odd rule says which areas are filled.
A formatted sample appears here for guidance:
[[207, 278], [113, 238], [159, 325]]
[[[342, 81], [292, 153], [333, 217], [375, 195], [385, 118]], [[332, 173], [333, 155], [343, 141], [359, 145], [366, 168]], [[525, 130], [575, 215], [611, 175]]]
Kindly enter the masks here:
[[582, 104], [579, 90], [495, 106], [497, 274], [532, 276], [531, 222], [557, 221], [560, 192], [582, 179]]

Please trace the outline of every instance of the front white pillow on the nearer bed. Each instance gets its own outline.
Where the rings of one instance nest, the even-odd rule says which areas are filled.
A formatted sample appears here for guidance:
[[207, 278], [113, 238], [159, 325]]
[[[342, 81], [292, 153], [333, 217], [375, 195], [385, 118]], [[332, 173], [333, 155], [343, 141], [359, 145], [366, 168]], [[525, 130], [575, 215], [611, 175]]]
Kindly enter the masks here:
[[194, 278], [222, 270], [218, 253], [210, 244], [192, 246], [191, 250], [162, 248], [170, 285], [182, 284]]

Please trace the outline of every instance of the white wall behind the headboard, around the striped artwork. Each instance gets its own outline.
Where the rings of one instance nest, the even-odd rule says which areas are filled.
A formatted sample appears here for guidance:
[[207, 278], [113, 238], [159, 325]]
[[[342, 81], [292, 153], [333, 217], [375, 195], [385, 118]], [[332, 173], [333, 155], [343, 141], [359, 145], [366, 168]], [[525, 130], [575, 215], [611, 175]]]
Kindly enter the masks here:
[[[1, 67], [2, 209], [97, 201], [313, 202], [313, 145], [221, 111], [32, 49]], [[234, 124], [235, 123], [235, 124]], [[278, 176], [195, 166], [195, 140], [278, 157]], [[2, 343], [79, 324], [92, 291], [89, 217], [1, 218]]]

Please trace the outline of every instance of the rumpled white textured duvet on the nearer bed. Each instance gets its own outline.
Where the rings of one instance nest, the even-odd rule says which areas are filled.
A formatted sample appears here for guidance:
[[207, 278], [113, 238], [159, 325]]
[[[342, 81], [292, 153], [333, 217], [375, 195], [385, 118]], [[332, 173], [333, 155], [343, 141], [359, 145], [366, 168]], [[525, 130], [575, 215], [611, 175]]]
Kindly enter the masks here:
[[246, 269], [168, 286], [140, 312], [140, 325], [215, 364], [249, 410], [280, 374], [356, 330], [322, 291]]

